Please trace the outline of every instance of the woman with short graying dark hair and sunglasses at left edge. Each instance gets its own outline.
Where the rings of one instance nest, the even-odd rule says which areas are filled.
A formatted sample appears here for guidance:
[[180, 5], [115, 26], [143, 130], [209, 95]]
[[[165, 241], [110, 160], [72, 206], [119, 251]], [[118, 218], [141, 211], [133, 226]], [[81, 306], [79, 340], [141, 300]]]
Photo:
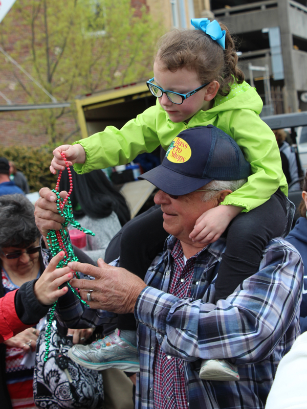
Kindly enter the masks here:
[[[0, 297], [21, 285], [38, 279], [45, 270], [40, 257], [40, 233], [34, 207], [23, 195], [0, 196]], [[24, 365], [28, 351], [34, 351], [39, 330], [27, 328], [1, 344], [0, 367], [5, 373], [2, 385], [11, 398], [11, 407], [34, 408], [34, 362]]]

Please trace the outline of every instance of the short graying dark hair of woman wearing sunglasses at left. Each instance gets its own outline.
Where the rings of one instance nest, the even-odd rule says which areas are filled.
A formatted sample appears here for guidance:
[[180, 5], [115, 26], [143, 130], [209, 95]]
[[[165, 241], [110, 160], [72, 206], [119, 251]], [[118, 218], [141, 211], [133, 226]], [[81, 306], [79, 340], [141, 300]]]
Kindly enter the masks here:
[[29, 247], [40, 236], [34, 206], [22, 194], [0, 196], [0, 249]]

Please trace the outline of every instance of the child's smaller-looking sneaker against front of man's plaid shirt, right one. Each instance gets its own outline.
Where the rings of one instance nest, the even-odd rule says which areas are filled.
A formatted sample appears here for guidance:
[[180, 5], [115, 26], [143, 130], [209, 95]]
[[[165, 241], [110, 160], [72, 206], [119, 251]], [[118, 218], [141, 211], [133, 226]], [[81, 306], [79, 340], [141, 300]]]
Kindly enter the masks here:
[[206, 380], [239, 380], [238, 368], [225, 359], [204, 359], [200, 378]]

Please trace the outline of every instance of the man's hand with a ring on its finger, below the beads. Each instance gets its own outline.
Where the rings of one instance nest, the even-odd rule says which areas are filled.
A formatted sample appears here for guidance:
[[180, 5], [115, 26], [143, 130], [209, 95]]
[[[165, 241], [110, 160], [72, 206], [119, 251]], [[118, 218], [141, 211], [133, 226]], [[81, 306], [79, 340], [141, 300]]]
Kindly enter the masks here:
[[[73, 287], [80, 289], [80, 296], [91, 308], [103, 309], [117, 314], [134, 312], [138, 296], [146, 284], [125, 268], [114, 267], [98, 259], [98, 267], [79, 262], [69, 263], [74, 271], [95, 277], [95, 280], [71, 280]], [[87, 301], [86, 294], [91, 292], [92, 301]]]

